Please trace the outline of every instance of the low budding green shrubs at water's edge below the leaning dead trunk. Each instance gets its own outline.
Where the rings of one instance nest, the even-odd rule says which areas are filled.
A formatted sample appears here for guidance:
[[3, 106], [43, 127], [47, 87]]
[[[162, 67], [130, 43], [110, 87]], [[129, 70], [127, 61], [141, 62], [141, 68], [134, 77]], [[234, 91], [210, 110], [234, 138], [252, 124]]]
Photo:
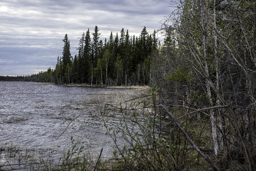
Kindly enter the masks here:
[[[173, 124], [159, 103], [159, 88], [151, 88], [151, 97], [139, 99], [131, 104], [120, 103], [119, 123], [104, 120], [107, 134], [116, 144], [113, 152], [112, 170], [207, 170], [204, 159], [191, 148], [182, 132]], [[105, 106], [101, 115], [108, 115]], [[181, 112], [179, 110], [178, 112]], [[178, 113], [177, 113], [178, 115]], [[184, 129], [194, 128], [190, 136], [198, 145], [210, 146], [202, 131], [207, 121], [189, 123], [189, 118], [181, 120]], [[111, 125], [111, 126], [109, 126]], [[196, 128], [196, 129], [195, 129]]]

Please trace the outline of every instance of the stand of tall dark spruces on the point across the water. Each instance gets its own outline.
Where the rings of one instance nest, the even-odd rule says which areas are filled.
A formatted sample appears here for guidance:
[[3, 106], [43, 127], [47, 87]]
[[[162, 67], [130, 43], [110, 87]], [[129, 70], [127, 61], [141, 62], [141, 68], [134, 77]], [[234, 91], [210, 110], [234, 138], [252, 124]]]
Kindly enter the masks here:
[[[119, 37], [120, 36], [120, 37]], [[139, 37], [130, 36], [121, 29], [120, 35], [100, 39], [95, 26], [92, 38], [90, 30], [83, 32], [74, 57], [70, 53], [70, 41], [63, 39], [62, 56], [58, 56], [52, 76], [56, 84], [87, 83], [105, 85], [149, 84], [151, 55], [157, 52], [156, 31], [149, 34], [146, 27]]]

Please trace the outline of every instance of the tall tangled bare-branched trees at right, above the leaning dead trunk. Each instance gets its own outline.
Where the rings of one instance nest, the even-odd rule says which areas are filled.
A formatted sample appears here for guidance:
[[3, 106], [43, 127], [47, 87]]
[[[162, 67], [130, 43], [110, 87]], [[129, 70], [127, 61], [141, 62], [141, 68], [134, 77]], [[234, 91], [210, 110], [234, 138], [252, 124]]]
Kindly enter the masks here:
[[205, 123], [202, 135], [211, 137], [202, 145], [213, 148], [218, 168], [255, 170], [255, 2], [176, 3], [162, 25], [164, 44], [151, 58], [161, 103], [191, 118], [188, 125]]

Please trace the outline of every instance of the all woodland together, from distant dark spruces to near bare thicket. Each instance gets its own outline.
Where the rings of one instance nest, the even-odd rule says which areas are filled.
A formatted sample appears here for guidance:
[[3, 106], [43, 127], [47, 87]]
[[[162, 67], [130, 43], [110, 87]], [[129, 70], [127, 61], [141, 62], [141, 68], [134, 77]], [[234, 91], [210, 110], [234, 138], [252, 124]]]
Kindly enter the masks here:
[[111, 32], [103, 41], [95, 26], [92, 38], [89, 30], [82, 34], [74, 58], [65, 35], [55, 70], [30, 79], [152, 87], [152, 105], [140, 102], [152, 107], [148, 121], [137, 118], [137, 108], [120, 107], [125, 117], [133, 111], [143, 135], [121, 129], [130, 148], [116, 152], [119, 170], [256, 170], [255, 1], [172, 6], [161, 44], [146, 27], [138, 38], [122, 29], [120, 38]]

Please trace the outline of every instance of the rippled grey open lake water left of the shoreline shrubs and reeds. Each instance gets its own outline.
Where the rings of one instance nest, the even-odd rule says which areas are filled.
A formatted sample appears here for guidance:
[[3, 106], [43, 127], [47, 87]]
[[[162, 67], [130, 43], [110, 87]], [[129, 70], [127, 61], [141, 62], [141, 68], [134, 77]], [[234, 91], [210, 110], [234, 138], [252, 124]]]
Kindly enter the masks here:
[[[71, 148], [73, 136], [91, 156], [97, 156], [103, 148], [101, 157], [108, 158], [114, 144], [105, 135], [103, 121], [98, 116], [101, 102], [111, 99], [115, 91], [0, 82], [0, 145], [12, 143], [58, 158]], [[72, 121], [75, 117], [78, 118]]]

